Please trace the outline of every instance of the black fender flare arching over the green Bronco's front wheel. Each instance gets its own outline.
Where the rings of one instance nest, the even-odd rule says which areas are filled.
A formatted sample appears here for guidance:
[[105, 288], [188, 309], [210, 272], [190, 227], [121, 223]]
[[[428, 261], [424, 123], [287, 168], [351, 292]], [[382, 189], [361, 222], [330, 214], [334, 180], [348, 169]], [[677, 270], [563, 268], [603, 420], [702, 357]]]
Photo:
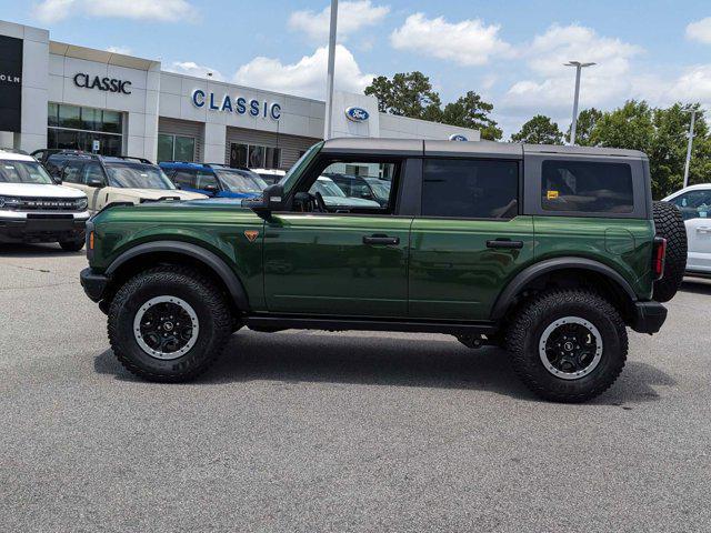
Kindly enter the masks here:
[[121, 265], [126, 264], [128, 261], [138, 258], [140, 255], [144, 255], [147, 253], [156, 253], [156, 252], [172, 252], [179, 253], [182, 255], [188, 255], [190, 258], [197, 259], [201, 261], [207, 266], [212, 269], [214, 273], [222, 280], [224, 285], [227, 286], [232, 300], [237, 304], [237, 306], [242, 311], [249, 310], [249, 299], [247, 298], [247, 291], [244, 291], [244, 286], [240, 279], [234, 274], [234, 272], [228, 266], [228, 264], [220, 257], [211, 252], [210, 250], [206, 250], [202, 247], [197, 244], [191, 244], [189, 242], [182, 241], [151, 241], [144, 242], [143, 244], [139, 244], [138, 247], [133, 247], [130, 250], [121, 253], [118, 258], [116, 258], [106, 273], [108, 276], [111, 276]]

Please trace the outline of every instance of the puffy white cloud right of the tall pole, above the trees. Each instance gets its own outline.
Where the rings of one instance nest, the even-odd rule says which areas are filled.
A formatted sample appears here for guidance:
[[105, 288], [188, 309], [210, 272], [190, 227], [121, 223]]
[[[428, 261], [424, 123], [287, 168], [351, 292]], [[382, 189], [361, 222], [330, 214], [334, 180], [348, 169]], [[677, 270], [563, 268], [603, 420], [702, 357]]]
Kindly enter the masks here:
[[398, 50], [409, 50], [463, 66], [487, 64], [498, 56], [511, 56], [512, 48], [499, 38], [499, 26], [479, 19], [448, 22], [443, 17], [428, 19], [411, 14], [390, 36]]

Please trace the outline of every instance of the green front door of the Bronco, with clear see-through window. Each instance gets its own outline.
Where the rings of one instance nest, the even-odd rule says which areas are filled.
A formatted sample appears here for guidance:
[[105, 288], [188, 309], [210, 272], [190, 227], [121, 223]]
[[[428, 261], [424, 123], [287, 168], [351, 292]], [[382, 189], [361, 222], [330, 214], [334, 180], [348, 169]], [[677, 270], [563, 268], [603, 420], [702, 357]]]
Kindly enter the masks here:
[[[368, 164], [374, 177], [382, 175], [383, 165], [400, 167]], [[398, 217], [394, 200], [381, 207], [348, 197], [326, 178], [342, 170], [340, 162], [319, 162], [297, 187], [301, 192], [296, 191], [299, 201], [291, 212], [274, 213], [264, 224], [269, 312], [372, 318], [407, 313], [412, 218]]]

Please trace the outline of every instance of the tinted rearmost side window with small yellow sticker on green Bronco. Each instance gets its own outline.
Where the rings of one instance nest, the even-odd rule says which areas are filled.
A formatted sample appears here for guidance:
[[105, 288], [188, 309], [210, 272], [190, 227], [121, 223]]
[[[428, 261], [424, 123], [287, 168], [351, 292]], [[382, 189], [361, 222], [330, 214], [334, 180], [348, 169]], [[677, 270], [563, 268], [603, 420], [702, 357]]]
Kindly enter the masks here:
[[543, 161], [541, 205], [545, 211], [631, 213], [632, 169], [627, 163]]

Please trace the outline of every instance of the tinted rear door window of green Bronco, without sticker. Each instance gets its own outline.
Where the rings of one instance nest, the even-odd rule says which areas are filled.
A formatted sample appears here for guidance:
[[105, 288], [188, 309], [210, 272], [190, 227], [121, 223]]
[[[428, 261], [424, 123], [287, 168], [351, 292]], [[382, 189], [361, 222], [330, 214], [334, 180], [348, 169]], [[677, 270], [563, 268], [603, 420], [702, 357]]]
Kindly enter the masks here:
[[438, 160], [424, 162], [422, 215], [511, 219], [519, 212], [515, 161]]

